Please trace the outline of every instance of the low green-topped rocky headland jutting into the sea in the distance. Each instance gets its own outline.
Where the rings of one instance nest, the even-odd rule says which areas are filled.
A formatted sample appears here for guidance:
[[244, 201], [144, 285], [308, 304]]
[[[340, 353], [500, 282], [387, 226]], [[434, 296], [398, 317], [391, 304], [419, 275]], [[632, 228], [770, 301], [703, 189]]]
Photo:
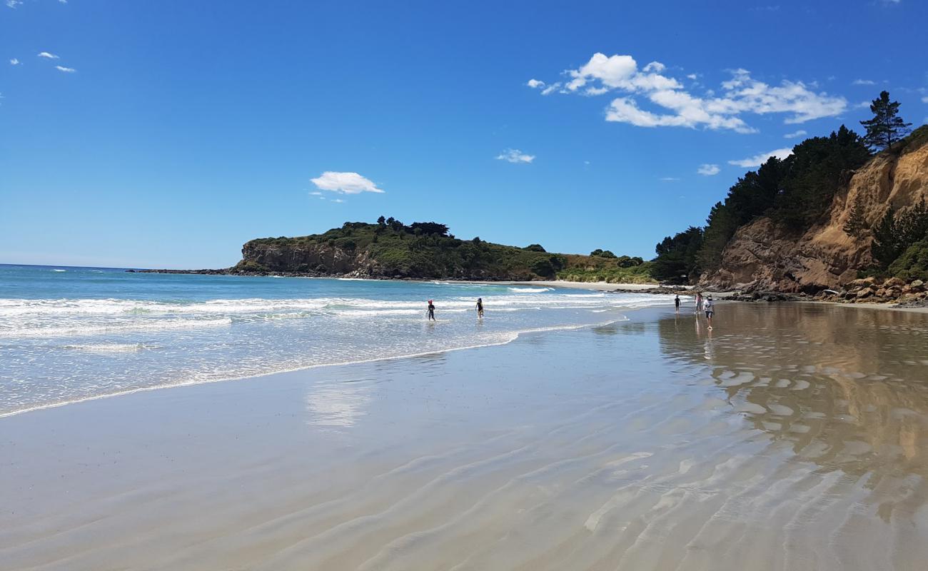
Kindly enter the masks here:
[[651, 265], [640, 257], [548, 253], [478, 238], [460, 240], [444, 224], [406, 225], [380, 216], [376, 224], [346, 222], [322, 234], [251, 240], [233, 270], [267, 273], [354, 274], [420, 279], [571, 279], [651, 282]]

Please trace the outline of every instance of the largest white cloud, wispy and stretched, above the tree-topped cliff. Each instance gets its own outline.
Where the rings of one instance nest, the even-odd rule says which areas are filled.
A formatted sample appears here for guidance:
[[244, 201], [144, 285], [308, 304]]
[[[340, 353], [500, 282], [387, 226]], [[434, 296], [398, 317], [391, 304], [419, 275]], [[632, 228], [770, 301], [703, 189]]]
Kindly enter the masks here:
[[[816, 93], [802, 82], [782, 81], [770, 85], [751, 77], [746, 70], [731, 71], [731, 79], [722, 83], [722, 92], [713, 90], [693, 95], [676, 78], [663, 74], [666, 66], [652, 61], [640, 71], [631, 56], [594, 54], [576, 70], [564, 71], [570, 79], [548, 84], [548, 95], [578, 93], [586, 96], [618, 92], [606, 110], [606, 121], [631, 123], [642, 127], [680, 126], [707, 129], [730, 129], [739, 133], [756, 130], [745, 123], [742, 114], [786, 114], [784, 123], [805, 123], [819, 117], [838, 115], [847, 107], [844, 97]], [[690, 79], [695, 73], [688, 75]], [[540, 80], [532, 80], [539, 82]], [[642, 103], [651, 109], [643, 109]]]

